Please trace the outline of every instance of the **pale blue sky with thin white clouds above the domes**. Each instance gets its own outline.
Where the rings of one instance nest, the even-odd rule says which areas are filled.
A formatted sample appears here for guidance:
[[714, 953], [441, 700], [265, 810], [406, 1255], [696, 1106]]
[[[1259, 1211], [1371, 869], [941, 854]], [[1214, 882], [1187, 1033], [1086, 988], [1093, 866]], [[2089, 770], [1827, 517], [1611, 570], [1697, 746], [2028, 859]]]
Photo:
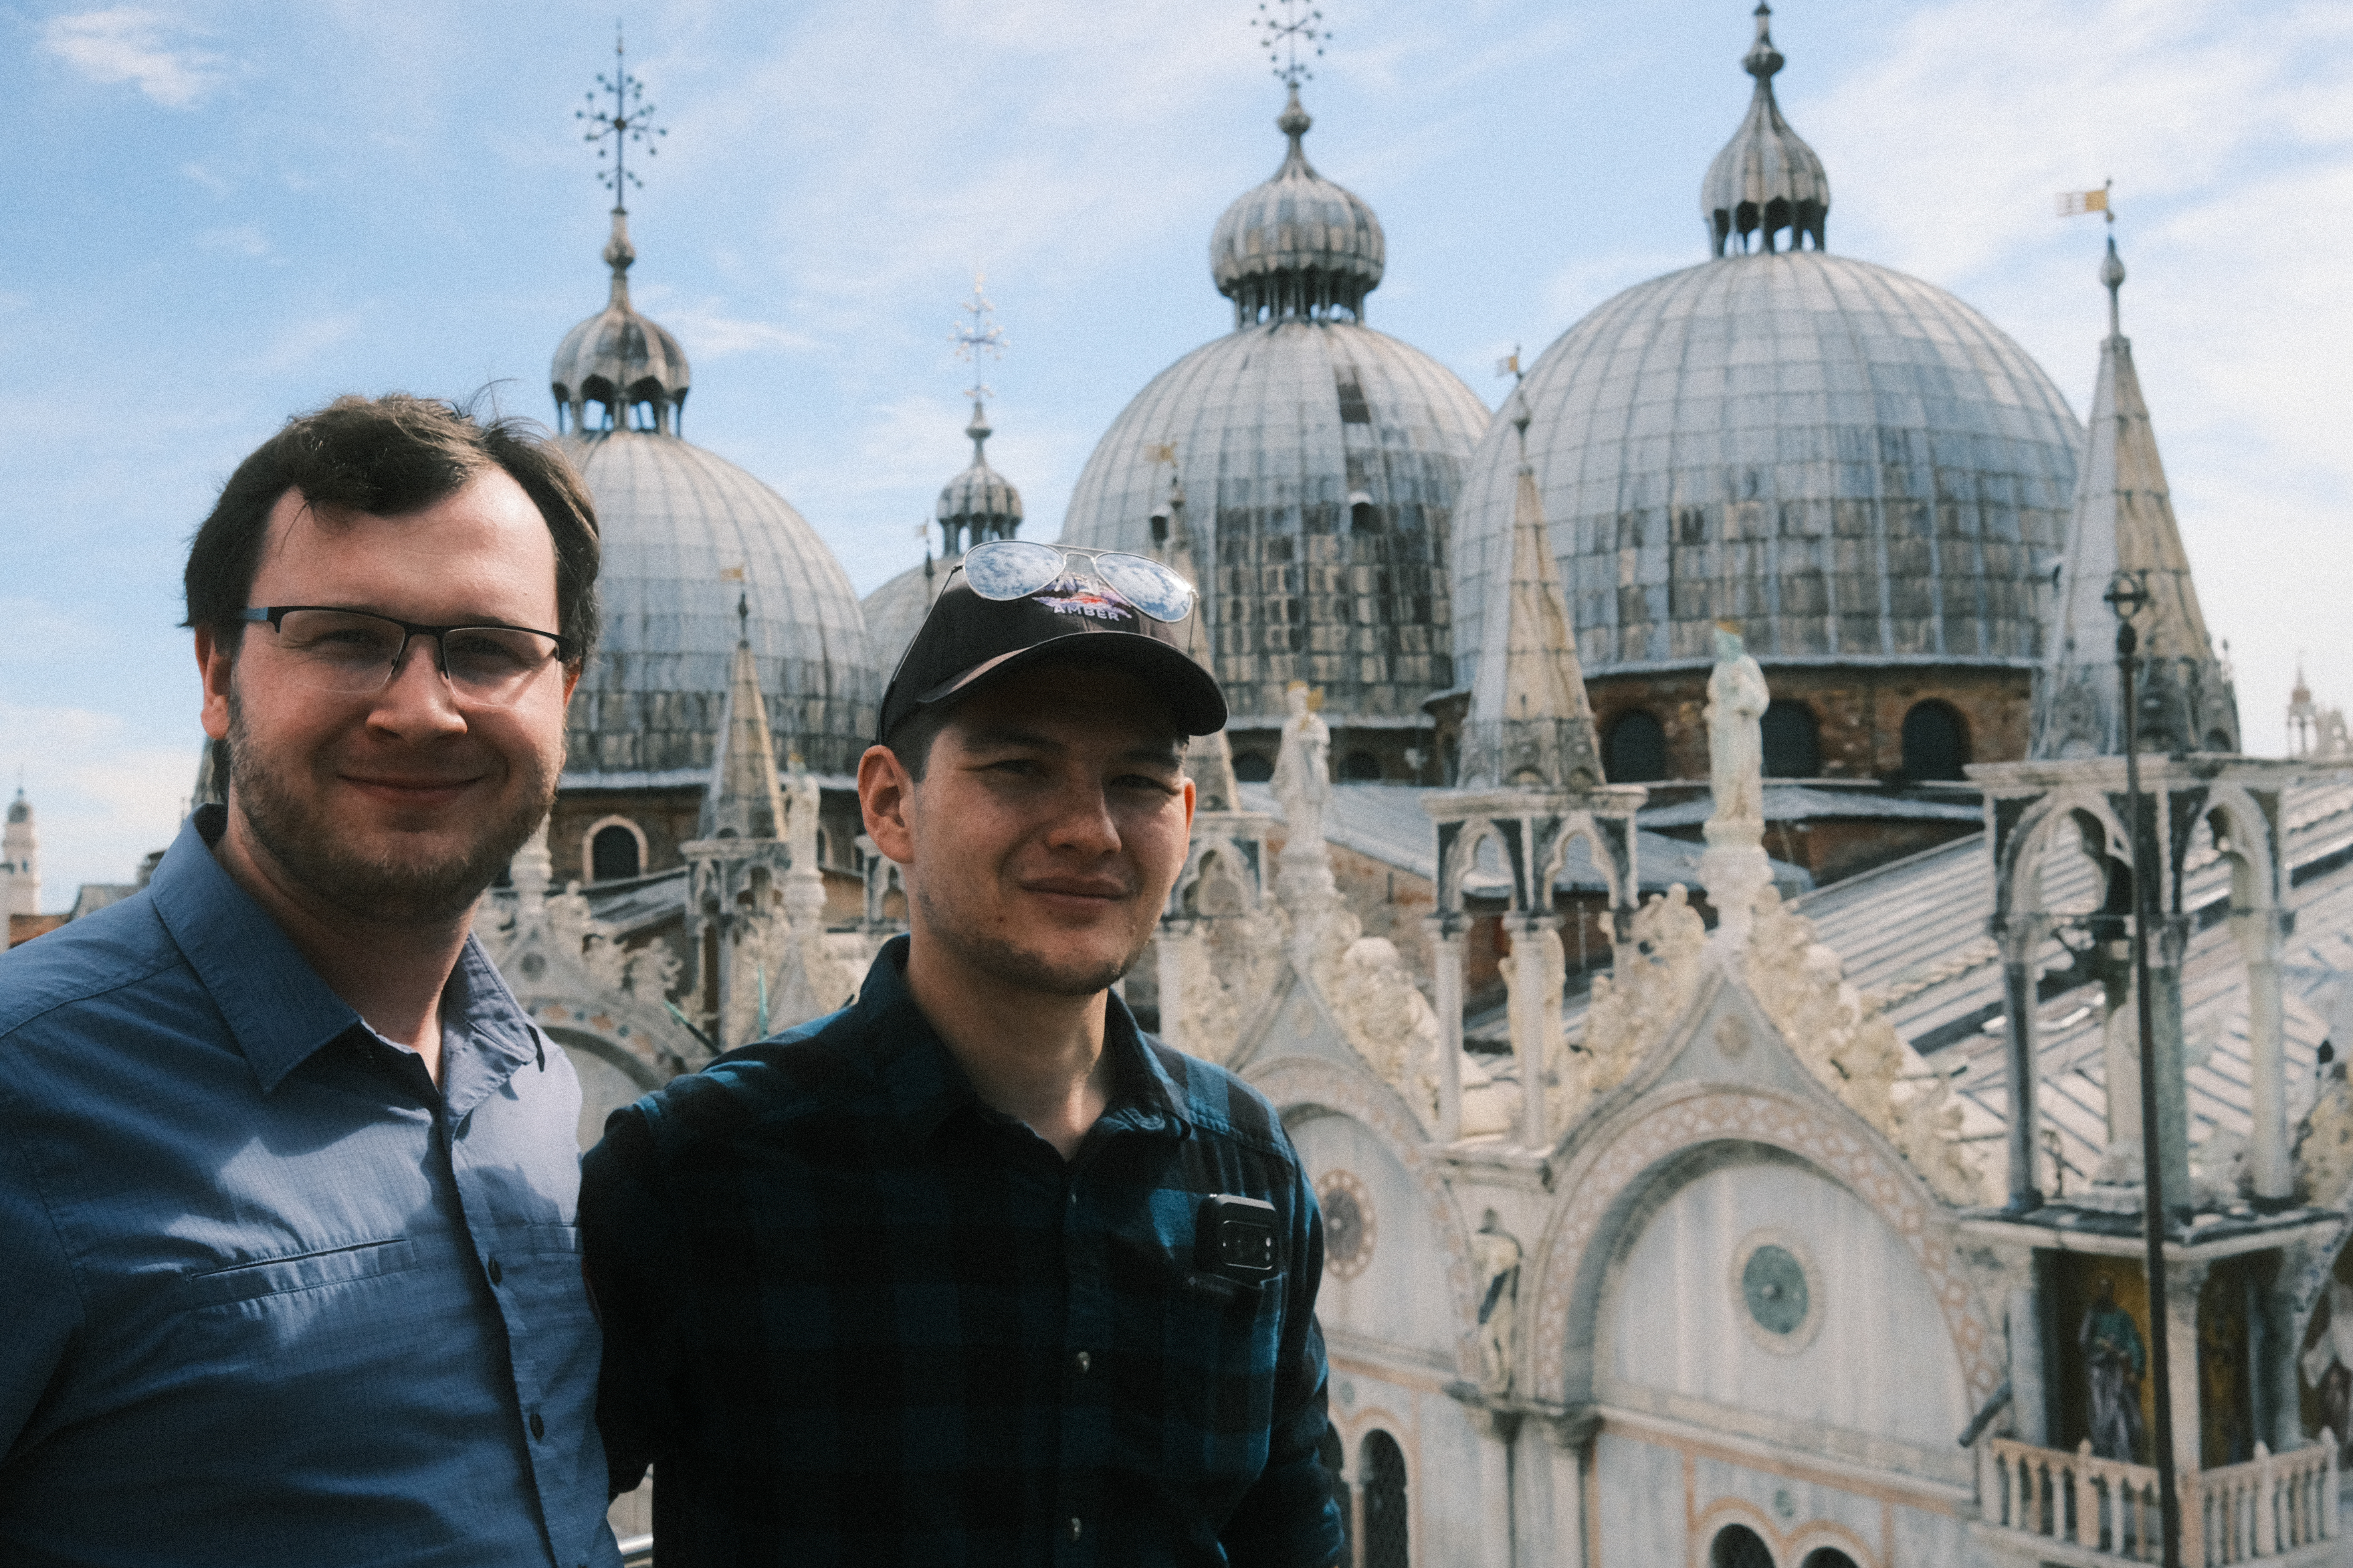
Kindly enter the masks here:
[[[1372, 202], [1369, 322], [1499, 402], [1624, 287], [1706, 256], [1699, 176], [1748, 99], [1744, 0], [1320, 0], [1318, 169]], [[624, 0], [666, 127], [628, 193], [685, 433], [781, 491], [866, 592], [969, 456], [955, 308], [1012, 343], [991, 461], [1049, 538], [1162, 367], [1231, 327], [1219, 212], [1280, 162], [1257, 0]], [[336, 393], [546, 418], [605, 299], [574, 118], [614, 5], [0, 0], [0, 788], [45, 907], [169, 842], [200, 743], [186, 538]], [[2297, 661], [2353, 703], [2353, 7], [1786, 0], [1777, 87], [1831, 249], [1984, 310], [2089, 407], [2115, 181], [2125, 331], [2252, 752]]]

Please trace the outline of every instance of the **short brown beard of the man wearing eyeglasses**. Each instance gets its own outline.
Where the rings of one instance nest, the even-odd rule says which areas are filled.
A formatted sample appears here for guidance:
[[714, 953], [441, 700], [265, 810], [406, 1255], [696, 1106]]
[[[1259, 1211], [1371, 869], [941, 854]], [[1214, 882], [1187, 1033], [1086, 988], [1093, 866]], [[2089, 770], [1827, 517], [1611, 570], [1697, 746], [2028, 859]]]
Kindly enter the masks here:
[[306, 891], [372, 924], [440, 926], [461, 919], [539, 830], [555, 802], [555, 771], [532, 755], [515, 809], [480, 823], [473, 844], [456, 853], [435, 860], [374, 856], [355, 849], [285, 788], [245, 731], [245, 712], [231, 696], [228, 799], [254, 842]]

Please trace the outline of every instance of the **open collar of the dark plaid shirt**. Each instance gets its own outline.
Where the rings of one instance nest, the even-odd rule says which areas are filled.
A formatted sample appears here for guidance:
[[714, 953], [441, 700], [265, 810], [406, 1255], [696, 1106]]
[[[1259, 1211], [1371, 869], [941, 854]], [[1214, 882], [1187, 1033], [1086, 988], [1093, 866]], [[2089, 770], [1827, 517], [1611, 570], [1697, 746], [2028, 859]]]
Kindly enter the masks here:
[[[859, 987], [854, 1013], [866, 1037], [868, 1067], [908, 1138], [925, 1140], [962, 1107], [986, 1110], [972, 1091], [972, 1079], [939, 1039], [906, 990], [908, 938], [882, 943], [866, 985]], [[1134, 1013], [1118, 992], [1104, 1009], [1104, 1051], [1113, 1053], [1111, 1105], [1096, 1126], [1106, 1131], [1184, 1135], [1186, 1121], [1174, 1081], [1144, 1046]]]

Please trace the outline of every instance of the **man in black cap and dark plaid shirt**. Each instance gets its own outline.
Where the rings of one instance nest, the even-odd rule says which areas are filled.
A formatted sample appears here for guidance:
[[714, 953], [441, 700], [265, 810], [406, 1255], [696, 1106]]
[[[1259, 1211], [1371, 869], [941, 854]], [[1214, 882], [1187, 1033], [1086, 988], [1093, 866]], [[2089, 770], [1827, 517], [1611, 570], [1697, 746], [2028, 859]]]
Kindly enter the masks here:
[[1111, 992], [1226, 722], [1191, 616], [1136, 555], [969, 550], [859, 762], [908, 936], [588, 1154], [600, 1425], [664, 1568], [1339, 1556], [1299, 1154]]

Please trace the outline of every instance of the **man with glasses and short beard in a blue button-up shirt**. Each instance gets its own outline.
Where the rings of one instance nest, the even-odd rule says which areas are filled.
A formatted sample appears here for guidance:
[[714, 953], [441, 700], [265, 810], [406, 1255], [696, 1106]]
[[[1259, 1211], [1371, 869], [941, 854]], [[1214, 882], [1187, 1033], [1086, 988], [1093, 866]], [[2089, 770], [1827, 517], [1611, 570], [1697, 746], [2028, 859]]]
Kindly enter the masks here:
[[579, 1084], [471, 938], [595, 571], [553, 444], [400, 395], [198, 529], [228, 802], [0, 957], [0, 1561], [619, 1563]]

